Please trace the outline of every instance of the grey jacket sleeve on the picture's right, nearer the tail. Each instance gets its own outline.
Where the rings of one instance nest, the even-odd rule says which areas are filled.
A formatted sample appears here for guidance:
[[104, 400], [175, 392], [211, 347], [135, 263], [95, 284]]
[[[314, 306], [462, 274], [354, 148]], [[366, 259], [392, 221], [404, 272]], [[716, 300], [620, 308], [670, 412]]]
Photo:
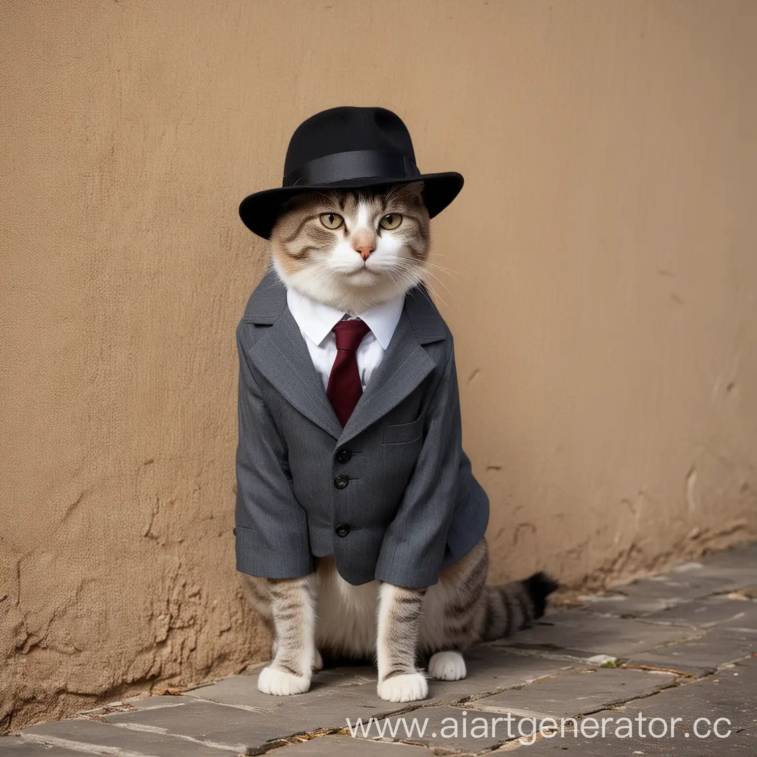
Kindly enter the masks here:
[[462, 450], [454, 350], [428, 404], [424, 428], [418, 462], [376, 562], [375, 578], [395, 586], [425, 587], [439, 580]]

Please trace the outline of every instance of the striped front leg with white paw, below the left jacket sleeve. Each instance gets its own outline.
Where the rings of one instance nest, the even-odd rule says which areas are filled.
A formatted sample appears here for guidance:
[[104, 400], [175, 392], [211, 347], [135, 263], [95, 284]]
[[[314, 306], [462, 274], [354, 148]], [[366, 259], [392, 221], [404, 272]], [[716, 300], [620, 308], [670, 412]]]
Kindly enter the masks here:
[[272, 578], [269, 590], [276, 652], [271, 664], [260, 671], [257, 687], [264, 694], [301, 694], [310, 688], [316, 662], [313, 580], [311, 576]]

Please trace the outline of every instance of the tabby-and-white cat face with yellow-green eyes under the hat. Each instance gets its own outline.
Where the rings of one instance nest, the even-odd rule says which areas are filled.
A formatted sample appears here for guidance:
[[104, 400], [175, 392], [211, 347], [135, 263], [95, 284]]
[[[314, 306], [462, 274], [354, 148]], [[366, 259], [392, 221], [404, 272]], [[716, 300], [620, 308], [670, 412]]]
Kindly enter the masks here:
[[404, 294], [428, 258], [422, 182], [382, 192], [309, 192], [288, 201], [271, 234], [286, 285], [347, 313]]

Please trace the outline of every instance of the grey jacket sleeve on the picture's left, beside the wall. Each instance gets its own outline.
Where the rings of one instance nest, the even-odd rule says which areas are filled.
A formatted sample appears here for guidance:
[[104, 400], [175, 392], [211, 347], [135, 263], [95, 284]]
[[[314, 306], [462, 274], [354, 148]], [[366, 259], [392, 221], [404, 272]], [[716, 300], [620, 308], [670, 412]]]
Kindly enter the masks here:
[[263, 578], [313, 572], [307, 516], [294, 497], [286, 444], [248, 364], [238, 326], [236, 567]]

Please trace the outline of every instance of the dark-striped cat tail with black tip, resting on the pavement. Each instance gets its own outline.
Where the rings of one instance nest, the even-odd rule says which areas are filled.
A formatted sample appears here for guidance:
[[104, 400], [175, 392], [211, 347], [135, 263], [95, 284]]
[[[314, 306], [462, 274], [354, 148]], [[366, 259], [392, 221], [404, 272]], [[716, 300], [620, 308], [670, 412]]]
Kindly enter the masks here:
[[525, 581], [484, 587], [484, 640], [501, 639], [528, 628], [544, 615], [547, 597], [557, 587], [557, 581], [543, 572], [534, 573]]

